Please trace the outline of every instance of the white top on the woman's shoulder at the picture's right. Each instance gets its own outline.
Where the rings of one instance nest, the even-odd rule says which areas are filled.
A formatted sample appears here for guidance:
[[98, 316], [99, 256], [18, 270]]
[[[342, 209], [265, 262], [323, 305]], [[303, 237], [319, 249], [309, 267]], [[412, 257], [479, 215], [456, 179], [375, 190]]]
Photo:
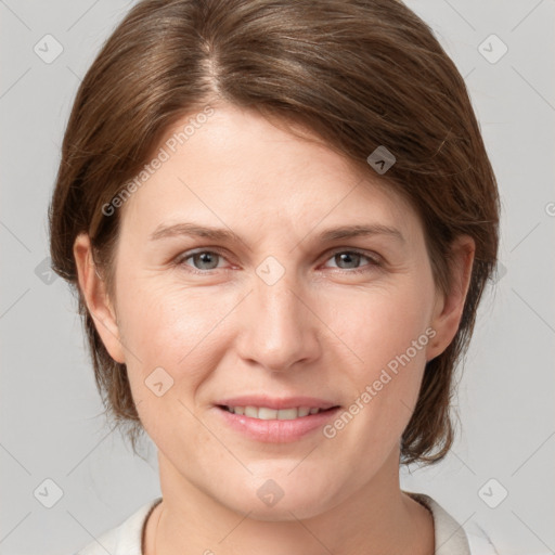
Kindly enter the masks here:
[[476, 522], [459, 524], [436, 500], [425, 493], [404, 491], [434, 515], [437, 555], [501, 555], [488, 533]]

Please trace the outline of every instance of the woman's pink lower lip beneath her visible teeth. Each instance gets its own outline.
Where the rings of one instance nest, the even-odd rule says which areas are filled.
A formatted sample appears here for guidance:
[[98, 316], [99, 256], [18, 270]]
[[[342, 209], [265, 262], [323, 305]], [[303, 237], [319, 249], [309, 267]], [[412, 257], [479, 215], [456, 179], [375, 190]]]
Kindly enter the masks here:
[[322, 427], [327, 421], [335, 417], [339, 406], [291, 421], [278, 418], [262, 421], [244, 414], [235, 414], [220, 406], [216, 406], [216, 410], [221, 414], [225, 424], [250, 439], [264, 443], [287, 443]]

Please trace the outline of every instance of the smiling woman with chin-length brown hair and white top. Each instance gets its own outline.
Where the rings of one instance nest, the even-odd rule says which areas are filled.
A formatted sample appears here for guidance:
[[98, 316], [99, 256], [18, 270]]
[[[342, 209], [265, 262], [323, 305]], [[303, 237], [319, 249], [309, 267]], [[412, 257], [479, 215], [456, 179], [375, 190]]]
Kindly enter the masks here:
[[464, 80], [401, 2], [139, 2], [50, 224], [107, 413], [158, 448], [162, 498], [81, 554], [494, 553], [399, 485], [453, 442], [499, 241]]

